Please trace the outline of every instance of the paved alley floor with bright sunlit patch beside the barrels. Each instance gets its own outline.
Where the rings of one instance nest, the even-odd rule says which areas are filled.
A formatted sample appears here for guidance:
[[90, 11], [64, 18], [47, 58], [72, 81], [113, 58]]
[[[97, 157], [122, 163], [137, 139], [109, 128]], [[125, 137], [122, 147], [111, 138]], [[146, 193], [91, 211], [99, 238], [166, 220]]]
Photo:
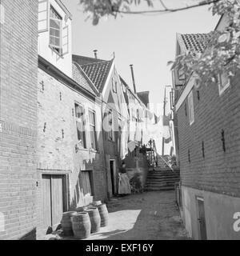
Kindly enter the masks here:
[[109, 225], [85, 240], [187, 239], [174, 203], [174, 191], [114, 198], [107, 207]]

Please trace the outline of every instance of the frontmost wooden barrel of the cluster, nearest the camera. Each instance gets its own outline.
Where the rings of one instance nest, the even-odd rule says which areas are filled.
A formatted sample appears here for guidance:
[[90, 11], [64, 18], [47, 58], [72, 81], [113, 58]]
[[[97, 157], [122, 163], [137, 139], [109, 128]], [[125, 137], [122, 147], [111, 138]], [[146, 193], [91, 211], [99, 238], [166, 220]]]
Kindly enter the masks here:
[[71, 222], [75, 238], [85, 239], [90, 237], [91, 222], [88, 213], [75, 214], [71, 217]]

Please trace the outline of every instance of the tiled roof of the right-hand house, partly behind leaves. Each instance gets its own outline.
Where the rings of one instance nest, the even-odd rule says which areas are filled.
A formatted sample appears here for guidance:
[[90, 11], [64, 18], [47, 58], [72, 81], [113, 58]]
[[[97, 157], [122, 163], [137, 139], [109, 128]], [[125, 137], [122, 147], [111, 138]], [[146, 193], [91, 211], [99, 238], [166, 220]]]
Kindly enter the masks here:
[[180, 34], [182, 42], [186, 46], [186, 50], [194, 50], [202, 53], [206, 49], [206, 42], [211, 37], [211, 33], [208, 34]]

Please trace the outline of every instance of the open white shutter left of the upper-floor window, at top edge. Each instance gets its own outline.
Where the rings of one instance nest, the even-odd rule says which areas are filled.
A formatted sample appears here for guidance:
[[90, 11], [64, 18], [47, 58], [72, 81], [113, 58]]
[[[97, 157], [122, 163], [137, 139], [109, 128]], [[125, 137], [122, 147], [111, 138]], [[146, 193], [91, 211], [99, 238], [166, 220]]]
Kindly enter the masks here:
[[49, 0], [38, 0], [38, 33], [48, 30]]

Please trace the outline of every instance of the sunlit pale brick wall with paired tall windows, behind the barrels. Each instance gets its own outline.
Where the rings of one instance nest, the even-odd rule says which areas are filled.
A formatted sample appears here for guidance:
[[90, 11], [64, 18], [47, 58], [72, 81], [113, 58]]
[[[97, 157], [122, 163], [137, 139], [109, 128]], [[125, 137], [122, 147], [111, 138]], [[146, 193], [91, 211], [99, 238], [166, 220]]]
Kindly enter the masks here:
[[[81, 74], [78, 74], [81, 76]], [[78, 80], [86, 83], [85, 78]], [[42, 83], [43, 82], [43, 83]], [[43, 85], [43, 87], [42, 87]], [[86, 87], [86, 85], [85, 85]], [[42, 88], [44, 90], [42, 90]], [[95, 110], [98, 151], [90, 150], [90, 134], [86, 132], [86, 149], [76, 152], [77, 128], [74, 112], [75, 102], [86, 111]], [[92, 200], [106, 200], [106, 169], [102, 147], [101, 105], [95, 104], [78, 90], [70, 88], [46, 70], [38, 69], [38, 197], [41, 201], [42, 174], [66, 174], [68, 176], [68, 210], [84, 206]], [[45, 127], [45, 129], [44, 129]], [[63, 136], [62, 136], [63, 130]], [[82, 191], [82, 170], [91, 170], [94, 197]], [[42, 203], [42, 202], [41, 202]], [[43, 208], [39, 205], [40, 232]]]

